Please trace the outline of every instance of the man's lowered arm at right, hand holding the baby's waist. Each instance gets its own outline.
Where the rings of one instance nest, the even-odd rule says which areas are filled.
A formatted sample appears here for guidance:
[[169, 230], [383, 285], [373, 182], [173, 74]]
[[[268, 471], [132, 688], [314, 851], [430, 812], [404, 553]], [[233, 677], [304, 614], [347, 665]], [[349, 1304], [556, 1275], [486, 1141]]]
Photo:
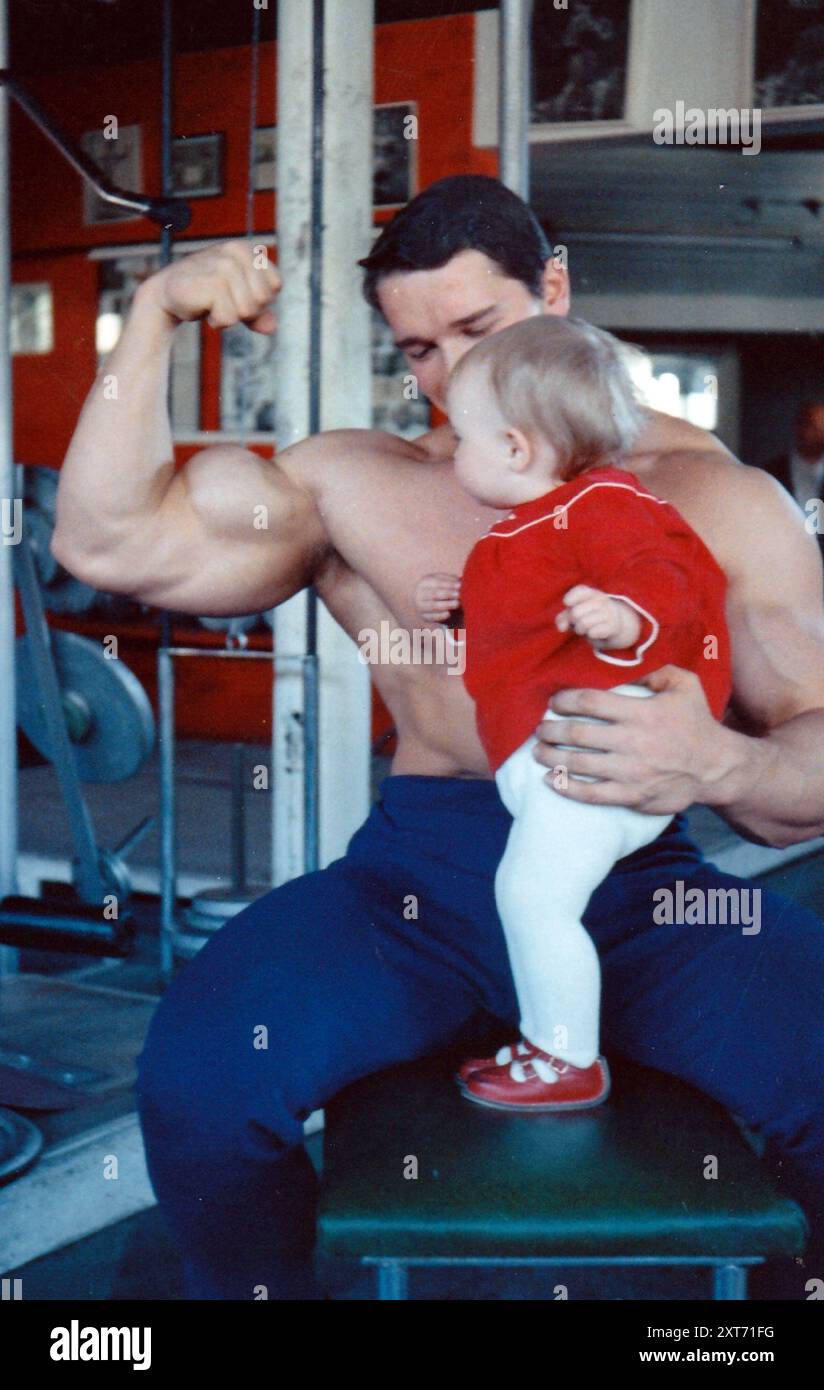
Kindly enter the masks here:
[[[753, 733], [713, 719], [698, 676], [664, 667], [643, 684], [654, 701], [609, 691], [561, 691], [563, 720], [539, 726], [535, 756], [563, 763], [561, 795], [635, 806], [650, 815], [713, 806], [743, 835], [784, 847], [824, 834], [824, 609], [821, 559], [800, 510], [764, 474], [736, 468], [713, 480], [711, 505], [727, 517], [743, 557], [727, 569], [735, 712]], [[606, 719], [582, 724], [575, 716]], [[572, 744], [581, 752], [559, 753]], [[553, 785], [556, 785], [553, 783]]]

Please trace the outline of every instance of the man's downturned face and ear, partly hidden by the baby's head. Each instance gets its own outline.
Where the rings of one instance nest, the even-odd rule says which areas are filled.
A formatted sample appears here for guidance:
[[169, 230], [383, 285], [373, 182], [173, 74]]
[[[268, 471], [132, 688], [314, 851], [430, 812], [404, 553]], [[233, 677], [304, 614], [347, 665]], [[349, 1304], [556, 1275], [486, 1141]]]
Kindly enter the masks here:
[[566, 272], [547, 263], [543, 299], [503, 275], [482, 252], [459, 252], [439, 270], [397, 271], [378, 285], [384, 317], [418, 385], [446, 409], [449, 374], [479, 338], [535, 314], [568, 313]]

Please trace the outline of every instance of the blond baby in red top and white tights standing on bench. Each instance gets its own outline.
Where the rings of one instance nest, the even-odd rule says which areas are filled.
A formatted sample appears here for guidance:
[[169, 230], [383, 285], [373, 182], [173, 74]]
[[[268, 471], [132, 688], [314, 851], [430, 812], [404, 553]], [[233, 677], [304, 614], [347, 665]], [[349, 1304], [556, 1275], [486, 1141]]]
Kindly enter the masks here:
[[[511, 510], [475, 543], [463, 578], [427, 575], [417, 602], [452, 641], [463, 609], [464, 682], [513, 816], [495, 897], [521, 1031], [496, 1056], [465, 1062], [459, 1084], [495, 1108], [581, 1109], [610, 1088], [599, 959], [581, 919], [616, 860], [671, 817], [563, 796], [566, 769], [547, 780], [535, 728], [559, 717], [547, 702], [561, 687], [654, 698], [638, 681], [667, 663], [699, 676], [720, 719], [731, 691], [725, 577], [679, 513], [621, 466], [645, 414], [609, 334], [549, 314], [506, 328], [459, 361], [447, 407], [459, 481]], [[598, 781], [599, 756], [577, 780]]]

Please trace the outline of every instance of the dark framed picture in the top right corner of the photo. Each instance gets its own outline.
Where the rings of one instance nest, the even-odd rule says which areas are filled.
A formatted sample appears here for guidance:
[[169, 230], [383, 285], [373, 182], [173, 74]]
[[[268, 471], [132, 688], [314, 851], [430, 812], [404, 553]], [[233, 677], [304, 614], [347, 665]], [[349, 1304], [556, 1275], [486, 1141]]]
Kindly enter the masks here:
[[759, 0], [756, 107], [824, 115], [824, 0]]

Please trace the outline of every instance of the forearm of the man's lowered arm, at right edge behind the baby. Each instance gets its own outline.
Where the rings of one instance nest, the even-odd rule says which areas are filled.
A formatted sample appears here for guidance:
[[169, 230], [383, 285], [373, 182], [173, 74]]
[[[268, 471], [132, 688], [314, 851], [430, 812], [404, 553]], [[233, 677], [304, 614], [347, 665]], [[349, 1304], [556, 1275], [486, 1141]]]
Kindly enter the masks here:
[[720, 728], [707, 806], [742, 834], [784, 848], [824, 835], [824, 710], [796, 714], [761, 738]]

